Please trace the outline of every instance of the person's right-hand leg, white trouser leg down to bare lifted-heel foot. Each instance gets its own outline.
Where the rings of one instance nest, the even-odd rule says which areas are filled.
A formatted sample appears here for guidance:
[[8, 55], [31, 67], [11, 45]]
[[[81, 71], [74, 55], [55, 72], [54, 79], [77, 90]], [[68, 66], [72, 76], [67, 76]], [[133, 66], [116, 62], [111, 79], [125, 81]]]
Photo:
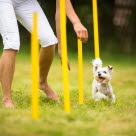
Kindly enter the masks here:
[[54, 57], [57, 39], [50, 24], [36, 0], [28, 0], [15, 8], [18, 21], [29, 31], [32, 30], [33, 13], [38, 13], [38, 36], [40, 49], [40, 89], [49, 99], [59, 101], [57, 94], [48, 85], [47, 77]]

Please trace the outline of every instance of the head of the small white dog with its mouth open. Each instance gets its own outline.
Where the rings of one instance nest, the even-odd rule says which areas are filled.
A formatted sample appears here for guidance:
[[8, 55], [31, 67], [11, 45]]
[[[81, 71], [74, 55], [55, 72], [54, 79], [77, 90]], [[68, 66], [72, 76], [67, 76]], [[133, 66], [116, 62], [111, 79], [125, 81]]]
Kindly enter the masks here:
[[101, 84], [107, 84], [111, 80], [112, 71], [113, 67], [110, 65], [104, 68], [96, 66], [94, 78]]

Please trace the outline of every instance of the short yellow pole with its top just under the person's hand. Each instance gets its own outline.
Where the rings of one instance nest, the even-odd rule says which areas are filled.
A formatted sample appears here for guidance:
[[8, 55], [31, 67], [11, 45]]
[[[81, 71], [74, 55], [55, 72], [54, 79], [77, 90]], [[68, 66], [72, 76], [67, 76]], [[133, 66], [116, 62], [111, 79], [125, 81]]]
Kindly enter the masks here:
[[82, 60], [82, 41], [78, 39], [78, 88], [79, 104], [83, 104], [83, 60]]

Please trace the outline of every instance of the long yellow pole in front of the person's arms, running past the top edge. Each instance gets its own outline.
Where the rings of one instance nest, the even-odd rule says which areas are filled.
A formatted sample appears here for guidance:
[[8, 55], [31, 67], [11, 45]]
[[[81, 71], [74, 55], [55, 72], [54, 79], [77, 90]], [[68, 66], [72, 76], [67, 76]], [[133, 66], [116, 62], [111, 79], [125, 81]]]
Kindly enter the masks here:
[[70, 96], [68, 87], [68, 65], [67, 65], [67, 38], [66, 38], [66, 8], [65, 0], [60, 0], [60, 34], [62, 50], [62, 75], [64, 89], [64, 108], [70, 112]]

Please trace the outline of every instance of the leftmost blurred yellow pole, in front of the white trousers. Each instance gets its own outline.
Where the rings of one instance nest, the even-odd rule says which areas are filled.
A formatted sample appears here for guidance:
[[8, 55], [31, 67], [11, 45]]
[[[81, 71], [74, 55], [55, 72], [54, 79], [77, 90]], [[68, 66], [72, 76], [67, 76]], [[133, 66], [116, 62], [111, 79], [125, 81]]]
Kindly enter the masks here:
[[31, 34], [31, 76], [32, 76], [32, 118], [37, 120], [39, 118], [39, 44], [38, 44], [38, 34], [37, 34], [37, 13], [33, 13], [33, 28]]

